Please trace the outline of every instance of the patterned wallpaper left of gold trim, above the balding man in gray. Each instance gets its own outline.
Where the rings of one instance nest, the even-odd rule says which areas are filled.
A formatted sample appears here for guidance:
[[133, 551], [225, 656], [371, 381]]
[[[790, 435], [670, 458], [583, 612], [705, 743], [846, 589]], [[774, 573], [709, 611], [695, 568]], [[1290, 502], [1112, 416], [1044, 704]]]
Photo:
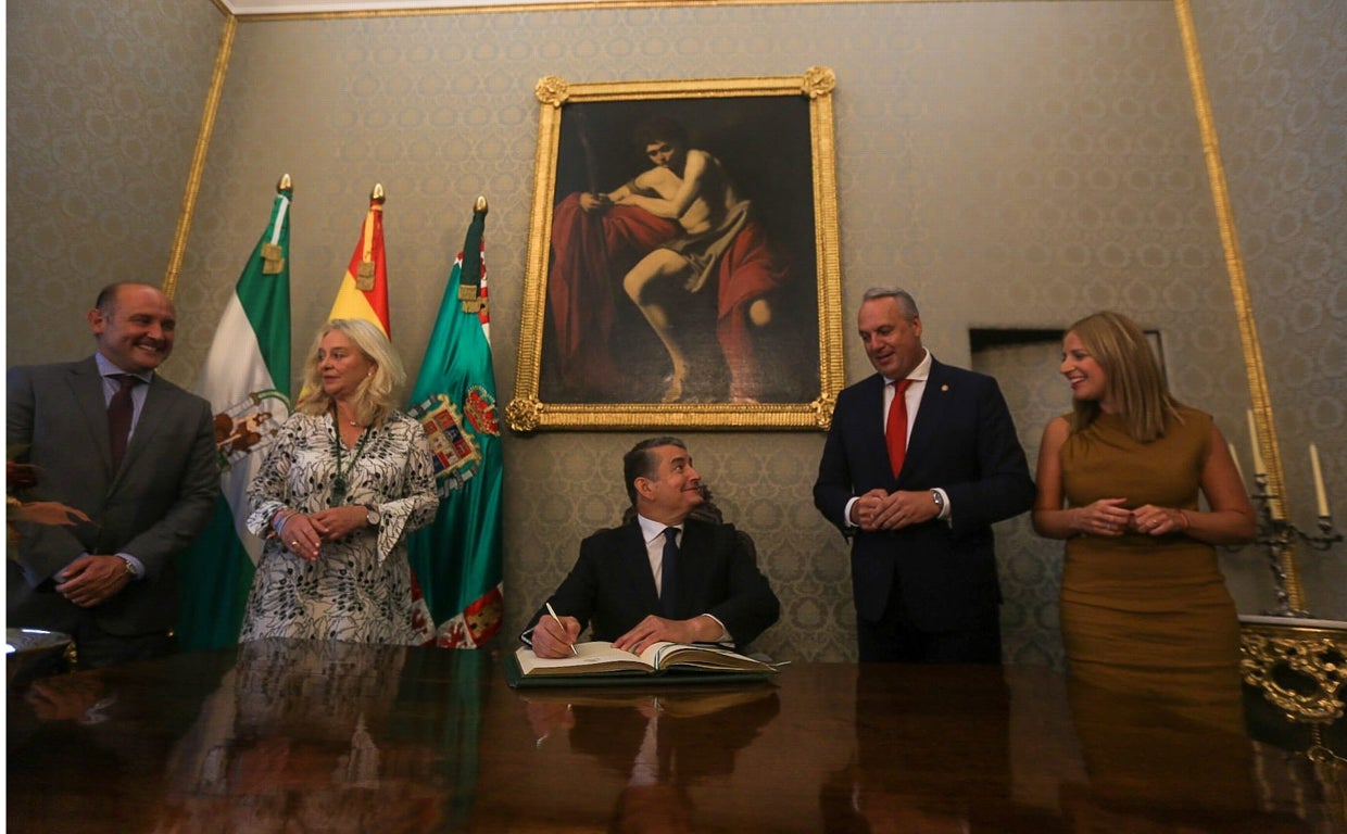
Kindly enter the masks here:
[[163, 280], [221, 23], [206, 0], [5, 4], [7, 364], [89, 353], [100, 287]]

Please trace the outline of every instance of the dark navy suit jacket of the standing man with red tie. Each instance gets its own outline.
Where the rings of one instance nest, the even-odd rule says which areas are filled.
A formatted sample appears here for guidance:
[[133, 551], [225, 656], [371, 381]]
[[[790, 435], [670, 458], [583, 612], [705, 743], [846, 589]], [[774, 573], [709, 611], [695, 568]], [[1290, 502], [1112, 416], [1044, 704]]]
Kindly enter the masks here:
[[956, 629], [1001, 601], [991, 524], [1033, 505], [1033, 480], [997, 381], [933, 358], [894, 478], [884, 445], [884, 384], [876, 373], [838, 395], [814, 505], [849, 534], [845, 513], [854, 496], [876, 488], [944, 489], [952, 525], [932, 519], [898, 531], [855, 531], [851, 585], [857, 614], [877, 621], [897, 573], [917, 628]]

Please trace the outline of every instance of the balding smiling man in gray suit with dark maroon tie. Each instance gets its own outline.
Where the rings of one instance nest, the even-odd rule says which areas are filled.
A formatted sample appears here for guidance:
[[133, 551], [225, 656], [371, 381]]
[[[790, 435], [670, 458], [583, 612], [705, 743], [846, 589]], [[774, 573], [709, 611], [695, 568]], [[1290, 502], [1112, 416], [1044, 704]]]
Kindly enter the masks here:
[[9, 453], [38, 481], [26, 497], [89, 520], [19, 523], [5, 593], [9, 627], [69, 633], [96, 668], [174, 651], [175, 560], [210, 520], [220, 465], [210, 403], [155, 373], [172, 352], [168, 296], [110, 284], [88, 318], [92, 357], [7, 375]]

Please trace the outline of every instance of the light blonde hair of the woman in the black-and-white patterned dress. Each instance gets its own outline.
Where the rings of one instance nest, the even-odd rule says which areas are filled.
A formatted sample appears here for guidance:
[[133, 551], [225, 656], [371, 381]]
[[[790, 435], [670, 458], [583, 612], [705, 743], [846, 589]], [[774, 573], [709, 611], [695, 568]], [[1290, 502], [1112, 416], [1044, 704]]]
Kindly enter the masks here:
[[308, 356], [304, 357], [304, 393], [295, 403], [295, 411], [318, 415], [333, 408], [333, 399], [323, 391], [322, 373], [318, 371], [318, 349], [334, 330], [349, 338], [374, 365], [374, 371], [356, 388], [352, 410], [360, 424], [379, 426], [396, 407], [396, 392], [407, 381], [407, 372], [384, 331], [360, 318], [334, 318], [318, 329]]

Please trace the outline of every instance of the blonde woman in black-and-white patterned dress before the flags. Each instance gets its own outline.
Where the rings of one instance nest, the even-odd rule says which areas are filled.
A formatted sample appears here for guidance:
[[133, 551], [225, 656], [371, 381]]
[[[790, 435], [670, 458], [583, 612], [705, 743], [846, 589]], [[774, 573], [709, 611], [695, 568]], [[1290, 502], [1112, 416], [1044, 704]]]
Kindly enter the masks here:
[[304, 392], [248, 489], [248, 530], [265, 543], [240, 641], [416, 641], [407, 534], [438, 497], [426, 434], [393, 408], [405, 379], [374, 325], [319, 329]]

